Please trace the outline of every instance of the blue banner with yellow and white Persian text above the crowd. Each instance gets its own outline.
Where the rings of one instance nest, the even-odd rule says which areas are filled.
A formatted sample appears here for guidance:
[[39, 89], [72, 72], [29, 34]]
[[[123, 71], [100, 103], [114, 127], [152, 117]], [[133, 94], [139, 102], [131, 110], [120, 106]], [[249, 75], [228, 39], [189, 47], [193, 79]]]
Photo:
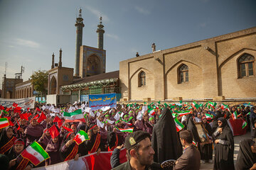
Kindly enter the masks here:
[[95, 111], [105, 106], [110, 106], [110, 108], [117, 107], [116, 94], [90, 94], [89, 95], [89, 107], [92, 108], [92, 111]]

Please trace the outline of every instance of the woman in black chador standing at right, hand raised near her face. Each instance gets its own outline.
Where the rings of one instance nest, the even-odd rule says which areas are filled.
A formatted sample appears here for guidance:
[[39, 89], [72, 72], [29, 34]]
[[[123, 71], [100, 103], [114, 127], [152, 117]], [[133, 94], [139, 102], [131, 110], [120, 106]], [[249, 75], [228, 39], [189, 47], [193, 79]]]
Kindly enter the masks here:
[[215, 143], [213, 169], [235, 169], [234, 138], [225, 118], [218, 118], [218, 129], [213, 133]]

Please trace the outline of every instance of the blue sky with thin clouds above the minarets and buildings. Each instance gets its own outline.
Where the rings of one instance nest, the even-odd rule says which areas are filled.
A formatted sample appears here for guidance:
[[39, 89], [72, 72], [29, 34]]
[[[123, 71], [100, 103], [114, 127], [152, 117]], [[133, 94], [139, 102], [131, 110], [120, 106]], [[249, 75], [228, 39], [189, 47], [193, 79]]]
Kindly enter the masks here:
[[[256, 26], [255, 0], [0, 0], [0, 76], [14, 78], [25, 67], [48, 70], [51, 55], [75, 67], [75, 18], [82, 8], [82, 45], [97, 47], [100, 13], [105, 26], [107, 72], [119, 62]], [[0, 87], [1, 88], [1, 87]]]

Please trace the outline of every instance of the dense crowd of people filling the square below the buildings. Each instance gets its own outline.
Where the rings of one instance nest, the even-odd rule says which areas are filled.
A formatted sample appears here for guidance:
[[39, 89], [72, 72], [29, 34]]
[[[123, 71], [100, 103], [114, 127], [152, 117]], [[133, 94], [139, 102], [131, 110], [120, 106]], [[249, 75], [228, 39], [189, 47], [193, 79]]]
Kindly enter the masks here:
[[[174, 159], [174, 169], [199, 169], [200, 164], [205, 162], [213, 162], [214, 169], [255, 169], [256, 107], [233, 106], [229, 110], [220, 106], [196, 108], [188, 103], [167, 105], [160, 102], [117, 104], [116, 108], [92, 112], [87, 112], [87, 107], [87, 103], [79, 102], [60, 106], [36, 103], [33, 109], [18, 110], [15, 107], [1, 106], [1, 118], [8, 118], [10, 124], [0, 129], [0, 154], [8, 157], [4, 159], [4, 155], [1, 155], [1, 161], [8, 162], [8, 169], [34, 168], [35, 166], [20, 154], [36, 141], [50, 156], [36, 167], [70, 159], [78, 160], [79, 157], [93, 152], [117, 152], [122, 147], [127, 149], [127, 159], [132, 165], [132, 157], [139, 157], [139, 152], [133, 152], [135, 145], [130, 146], [135, 141], [134, 144], [141, 143], [136, 145], [138, 148], [144, 144], [149, 147], [148, 143], [152, 148], [146, 152], [148, 157], [141, 157], [149, 161], [136, 159], [137, 163], [143, 165], [150, 165], [153, 161], [162, 164], [166, 160]], [[63, 117], [63, 112], [70, 113], [79, 109], [82, 110], [84, 120], [70, 122]], [[189, 112], [185, 114], [186, 111]], [[250, 130], [252, 137], [240, 143], [236, 165], [233, 161], [233, 132], [228, 125], [228, 119], [234, 119], [233, 113], [237, 113], [238, 119], [247, 123], [245, 128]], [[46, 115], [46, 118], [42, 120], [41, 114]], [[177, 128], [177, 121], [181, 129]], [[59, 132], [55, 137], [49, 132], [53, 125]], [[198, 125], [201, 126], [200, 129]], [[127, 129], [132, 129], [133, 132], [123, 131]], [[73, 138], [80, 130], [85, 131], [89, 139], [78, 145]], [[143, 136], [139, 138], [139, 142], [136, 142], [139, 135], [131, 136], [136, 132]], [[134, 150], [136, 151], [136, 147]], [[192, 161], [186, 162], [188, 157], [184, 156], [185, 153], [192, 155]], [[196, 157], [193, 157], [195, 155]], [[119, 165], [118, 157], [116, 158], [111, 160], [112, 168], [124, 166]]]

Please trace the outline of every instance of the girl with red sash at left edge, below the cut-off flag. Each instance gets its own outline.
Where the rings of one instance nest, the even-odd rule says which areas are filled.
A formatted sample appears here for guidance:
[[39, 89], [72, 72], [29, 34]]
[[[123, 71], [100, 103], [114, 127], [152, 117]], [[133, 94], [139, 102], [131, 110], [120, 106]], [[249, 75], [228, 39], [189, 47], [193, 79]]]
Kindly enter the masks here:
[[11, 126], [1, 129], [0, 132], [0, 154], [7, 154], [13, 147], [16, 137]]

